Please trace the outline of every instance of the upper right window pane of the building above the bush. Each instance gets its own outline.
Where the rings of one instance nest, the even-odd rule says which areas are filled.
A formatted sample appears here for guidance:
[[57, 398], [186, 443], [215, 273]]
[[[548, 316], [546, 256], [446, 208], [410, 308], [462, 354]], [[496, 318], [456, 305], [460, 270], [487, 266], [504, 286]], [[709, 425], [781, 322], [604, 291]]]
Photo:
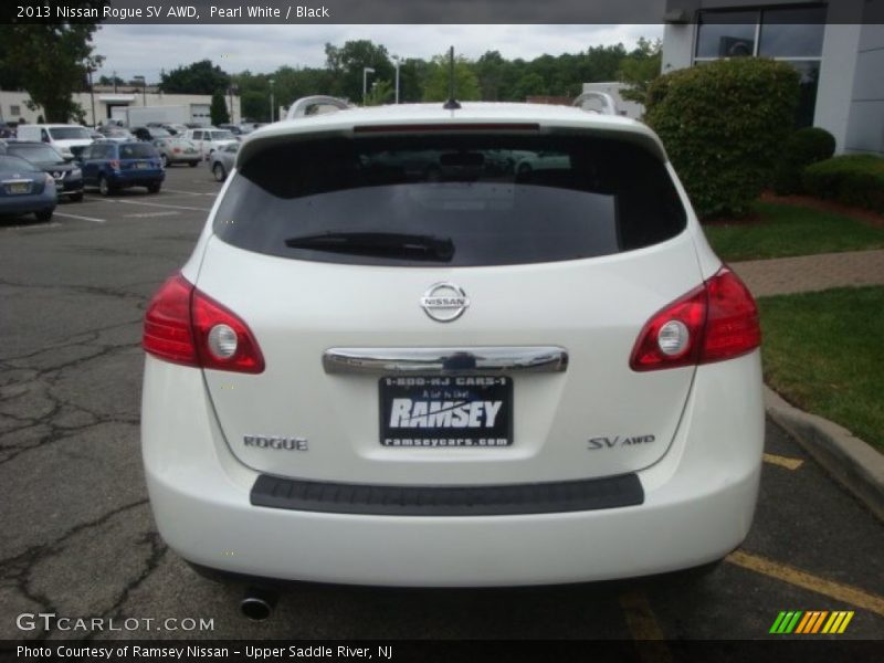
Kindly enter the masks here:
[[825, 8], [778, 9], [764, 12], [759, 55], [820, 57]]

